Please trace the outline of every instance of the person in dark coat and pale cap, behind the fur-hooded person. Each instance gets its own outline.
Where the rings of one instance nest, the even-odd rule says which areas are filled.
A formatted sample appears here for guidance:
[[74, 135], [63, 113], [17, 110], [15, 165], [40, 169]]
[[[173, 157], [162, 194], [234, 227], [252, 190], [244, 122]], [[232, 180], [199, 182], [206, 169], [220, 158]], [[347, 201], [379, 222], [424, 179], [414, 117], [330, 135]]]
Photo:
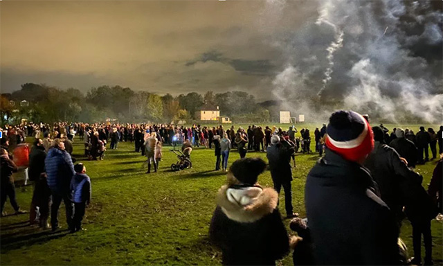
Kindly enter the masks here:
[[287, 218], [293, 218], [298, 215], [297, 213], [293, 213], [292, 207], [291, 154], [293, 154], [293, 148], [284, 147], [282, 143], [280, 143], [280, 137], [278, 135], [271, 137], [271, 144], [271, 147], [267, 149], [266, 157], [269, 161], [269, 169], [271, 170], [274, 189], [280, 194], [283, 186], [284, 207]]

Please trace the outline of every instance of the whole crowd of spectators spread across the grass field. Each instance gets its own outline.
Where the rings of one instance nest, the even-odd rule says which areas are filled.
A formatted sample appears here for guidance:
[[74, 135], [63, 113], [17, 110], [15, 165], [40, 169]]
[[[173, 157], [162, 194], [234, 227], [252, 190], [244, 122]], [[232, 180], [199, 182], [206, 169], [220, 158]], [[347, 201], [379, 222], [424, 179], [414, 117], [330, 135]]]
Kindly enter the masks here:
[[[34, 183], [30, 223], [43, 229], [59, 228], [58, 211], [64, 202], [71, 232], [82, 230], [82, 218], [91, 202], [91, 180], [82, 163], [72, 157], [75, 135], [84, 142], [84, 155], [104, 158], [107, 143], [134, 143], [134, 152], [147, 158], [147, 173], [159, 169], [162, 145], [181, 145], [186, 158], [194, 147], [214, 148], [215, 170], [227, 172], [227, 184], [217, 194], [217, 208], [210, 223], [210, 239], [223, 251], [225, 265], [274, 265], [294, 249], [295, 265], [432, 265], [431, 220], [443, 212], [442, 159], [433, 172], [428, 190], [417, 164], [437, 159], [442, 149], [443, 126], [419, 132], [383, 125], [371, 127], [368, 116], [339, 111], [329, 124], [314, 131], [315, 152], [320, 160], [307, 176], [307, 218], [293, 212], [291, 181], [297, 152], [310, 153], [308, 128], [289, 130], [251, 125], [245, 130], [192, 125], [110, 123], [55, 123], [7, 126], [1, 139], [1, 215], [6, 198], [17, 214], [12, 172], [12, 150], [33, 136], [28, 175]], [[431, 148], [432, 158], [428, 149]], [[228, 168], [231, 150], [240, 159]], [[248, 151], [266, 152], [266, 163], [246, 158]], [[323, 157], [323, 153], [325, 156]], [[74, 165], [75, 164], [75, 165]], [[262, 188], [259, 175], [269, 168], [273, 188]], [[286, 218], [298, 237], [289, 236], [278, 210], [278, 194], [284, 190]], [[50, 224], [48, 219], [51, 216]], [[404, 218], [413, 226], [410, 262], [398, 245]]]

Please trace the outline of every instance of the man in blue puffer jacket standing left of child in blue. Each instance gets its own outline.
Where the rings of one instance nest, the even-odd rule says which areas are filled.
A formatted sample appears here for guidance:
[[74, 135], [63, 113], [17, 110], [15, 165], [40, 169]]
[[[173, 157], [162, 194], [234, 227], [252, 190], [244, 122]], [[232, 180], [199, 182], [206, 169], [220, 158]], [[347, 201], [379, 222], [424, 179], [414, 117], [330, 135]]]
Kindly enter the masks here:
[[71, 155], [64, 150], [60, 139], [53, 141], [52, 148], [44, 161], [48, 186], [51, 189], [53, 204], [51, 206], [51, 226], [53, 231], [58, 228], [58, 209], [62, 200], [66, 208], [66, 222], [69, 229], [72, 226], [73, 203], [71, 202], [71, 179], [75, 174]]

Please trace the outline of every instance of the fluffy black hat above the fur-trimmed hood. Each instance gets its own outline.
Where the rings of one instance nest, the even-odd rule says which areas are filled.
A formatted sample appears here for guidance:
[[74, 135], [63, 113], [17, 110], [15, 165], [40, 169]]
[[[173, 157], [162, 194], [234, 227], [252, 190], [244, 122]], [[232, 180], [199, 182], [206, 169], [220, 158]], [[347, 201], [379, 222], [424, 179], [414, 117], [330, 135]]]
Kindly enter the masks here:
[[243, 158], [230, 166], [229, 171], [233, 173], [234, 177], [242, 182], [253, 186], [257, 183], [258, 175], [266, 169], [266, 163], [261, 158]]

